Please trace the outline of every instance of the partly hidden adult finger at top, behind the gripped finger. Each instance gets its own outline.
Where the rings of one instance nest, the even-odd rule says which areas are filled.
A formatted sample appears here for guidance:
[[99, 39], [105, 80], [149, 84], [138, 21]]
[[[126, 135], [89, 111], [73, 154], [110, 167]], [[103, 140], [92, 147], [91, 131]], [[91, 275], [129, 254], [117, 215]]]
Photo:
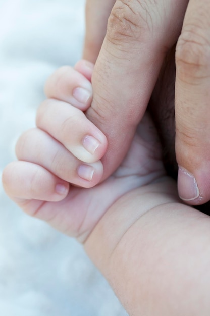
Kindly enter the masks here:
[[87, 0], [83, 58], [95, 63], [107, 31], [107, 21], [116, 0]]

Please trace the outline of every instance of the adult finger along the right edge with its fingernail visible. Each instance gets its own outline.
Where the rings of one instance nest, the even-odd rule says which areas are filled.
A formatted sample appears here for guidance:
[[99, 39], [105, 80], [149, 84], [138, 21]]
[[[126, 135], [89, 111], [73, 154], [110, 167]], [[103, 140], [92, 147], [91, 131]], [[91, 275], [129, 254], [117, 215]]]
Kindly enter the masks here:
[[210, 199], [210, 2], [189, 2], [176, 48], [178, 190], [189, 204]]

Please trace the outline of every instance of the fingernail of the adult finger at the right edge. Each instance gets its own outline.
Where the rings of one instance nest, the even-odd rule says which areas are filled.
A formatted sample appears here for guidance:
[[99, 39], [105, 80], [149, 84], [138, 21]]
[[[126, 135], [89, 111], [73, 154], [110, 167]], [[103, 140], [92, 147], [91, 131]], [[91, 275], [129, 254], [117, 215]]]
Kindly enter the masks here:
[[178, 193], [184, 201], [195, 200], [200, 195], [195, 177], [181, 166], [178, 171]]

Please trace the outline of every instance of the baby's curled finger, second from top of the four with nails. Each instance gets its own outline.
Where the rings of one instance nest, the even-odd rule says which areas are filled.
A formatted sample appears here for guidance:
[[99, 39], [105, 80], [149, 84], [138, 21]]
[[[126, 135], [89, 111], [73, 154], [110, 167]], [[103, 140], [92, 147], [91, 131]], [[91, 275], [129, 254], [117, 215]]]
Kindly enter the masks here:
[[99, 161], [107, 150], [106, 136], [68, 103], [45, 100], [37, 111], [36, 125], [85, 163]]

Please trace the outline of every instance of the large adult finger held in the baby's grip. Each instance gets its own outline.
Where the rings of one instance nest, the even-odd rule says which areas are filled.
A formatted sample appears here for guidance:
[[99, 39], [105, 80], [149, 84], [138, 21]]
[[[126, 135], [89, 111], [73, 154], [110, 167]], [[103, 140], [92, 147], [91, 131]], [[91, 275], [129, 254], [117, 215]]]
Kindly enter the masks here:
[[188, 1], [118, 0], [93, 75], [87, 117], [108, 137], [103, 179], [119, 166], [147, 107]]

